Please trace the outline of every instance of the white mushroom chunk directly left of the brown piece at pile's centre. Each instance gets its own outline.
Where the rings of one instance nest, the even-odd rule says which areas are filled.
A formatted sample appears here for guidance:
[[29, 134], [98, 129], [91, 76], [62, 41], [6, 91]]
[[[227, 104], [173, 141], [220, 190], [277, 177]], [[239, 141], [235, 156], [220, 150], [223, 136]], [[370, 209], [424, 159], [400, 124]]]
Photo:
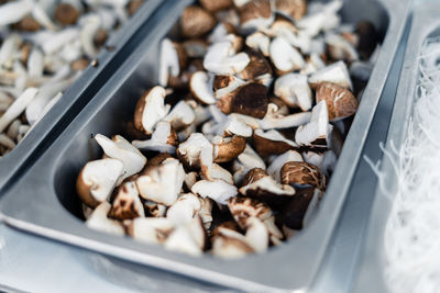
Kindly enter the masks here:
[[208, 149], [206, 156], [209, 156], [210, 150], [212, 157], [213, 147], [211, 143], [209, 143], [201, 133], [193, 133], [186, 142], [178, 146], [177, 156], [179, 156], [187, 166], [199, 168], [201, 165], [200, 156], [202, 149]]

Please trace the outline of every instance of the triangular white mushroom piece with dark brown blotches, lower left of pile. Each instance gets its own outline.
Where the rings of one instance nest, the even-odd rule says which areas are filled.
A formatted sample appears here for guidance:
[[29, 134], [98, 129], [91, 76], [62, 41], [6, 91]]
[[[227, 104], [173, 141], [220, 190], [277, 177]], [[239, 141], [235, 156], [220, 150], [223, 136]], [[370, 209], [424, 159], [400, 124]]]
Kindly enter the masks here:
[[124, 182], [118, 188], [109, 216], [121, 221], [145, 217], [135, 182]]

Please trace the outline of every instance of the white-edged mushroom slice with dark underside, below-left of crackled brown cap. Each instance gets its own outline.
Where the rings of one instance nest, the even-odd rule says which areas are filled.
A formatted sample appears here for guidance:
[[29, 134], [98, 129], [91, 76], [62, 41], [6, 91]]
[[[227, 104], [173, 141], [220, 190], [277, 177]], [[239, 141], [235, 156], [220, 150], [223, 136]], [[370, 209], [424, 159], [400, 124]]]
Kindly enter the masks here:
[[277, 207], [295, 195], [295, 189], [290, 185], [282, 185], [272, 177], [266, 176], [251, 184], [242, 187], [240, 193], [257, 199], [270, 206]]

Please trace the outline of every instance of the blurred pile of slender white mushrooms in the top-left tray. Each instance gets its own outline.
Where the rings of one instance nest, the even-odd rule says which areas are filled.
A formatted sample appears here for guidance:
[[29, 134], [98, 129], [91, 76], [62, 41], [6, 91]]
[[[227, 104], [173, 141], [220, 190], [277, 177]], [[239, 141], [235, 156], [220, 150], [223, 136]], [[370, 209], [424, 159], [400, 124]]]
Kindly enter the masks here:
[[[143, 0], [0, 1], [0, 157], [11, 151]], [[111, 48], [110, 48], [111, 49]]]

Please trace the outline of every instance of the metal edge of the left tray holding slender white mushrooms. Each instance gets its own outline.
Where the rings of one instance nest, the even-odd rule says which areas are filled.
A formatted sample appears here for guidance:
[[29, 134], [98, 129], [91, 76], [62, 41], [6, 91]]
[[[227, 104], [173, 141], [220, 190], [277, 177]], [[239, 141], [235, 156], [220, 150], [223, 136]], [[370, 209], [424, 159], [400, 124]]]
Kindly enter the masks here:
[[140, 29], [161, 2], [146, 0], [118, 32], [110, 35], [106, 46], [96, 57], [98, 65], [90, 65], [24, 139], [11, 153], [0, 158], [0, 193], [3, 189], [9, 189], [8, 182], [11, 179], [15, 181], [20, 171], [25, 170], [47, 148], [110, 78], [124, 60], [124, 56], [133, 50], [129, 40], [147, 32], [147, 27]]

